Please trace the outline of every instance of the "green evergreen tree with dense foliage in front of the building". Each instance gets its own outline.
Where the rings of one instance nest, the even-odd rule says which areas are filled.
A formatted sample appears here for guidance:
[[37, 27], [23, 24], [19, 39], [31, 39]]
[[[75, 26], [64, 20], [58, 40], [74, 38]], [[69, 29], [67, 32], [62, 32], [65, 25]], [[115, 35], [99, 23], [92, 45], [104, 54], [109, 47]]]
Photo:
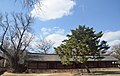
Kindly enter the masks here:
[[71, 34], [67, 35], [68, 39], [55, 48], [55, 51], [63, 64], [71, 64], [71, 60], [75, 63], [83, 63], [87, 72], [90, 73], [87, 60], [91, 56], [92, 58], [100, 56], [109, 48], [106, 41], [100, 41], [102, 35], [102, 32], [95, 33], [93, 28], [79, 26], [71, 30]]

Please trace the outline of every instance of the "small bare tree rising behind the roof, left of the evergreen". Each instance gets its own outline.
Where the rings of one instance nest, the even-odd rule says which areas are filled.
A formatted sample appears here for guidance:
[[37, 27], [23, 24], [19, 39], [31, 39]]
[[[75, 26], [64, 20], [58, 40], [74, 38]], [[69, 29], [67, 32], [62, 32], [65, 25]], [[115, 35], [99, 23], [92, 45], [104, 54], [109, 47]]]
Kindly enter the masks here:
[[54, 43], [51, 40], [40, 39], [36, 47], [39, 49], [40, 53], [48, 54], [49, 49], [52, 47], [53, 44]]

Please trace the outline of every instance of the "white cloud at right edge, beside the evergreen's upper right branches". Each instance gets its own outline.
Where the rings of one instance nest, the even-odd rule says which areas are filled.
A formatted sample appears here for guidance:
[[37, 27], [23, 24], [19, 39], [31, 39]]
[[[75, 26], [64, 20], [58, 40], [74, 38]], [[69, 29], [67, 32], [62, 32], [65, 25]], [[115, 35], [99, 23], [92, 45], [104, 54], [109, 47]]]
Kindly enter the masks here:
[[120, 43], [120, 31], [106, 32], [101, 40], [107, 41], [110, 46], [117, 45]]

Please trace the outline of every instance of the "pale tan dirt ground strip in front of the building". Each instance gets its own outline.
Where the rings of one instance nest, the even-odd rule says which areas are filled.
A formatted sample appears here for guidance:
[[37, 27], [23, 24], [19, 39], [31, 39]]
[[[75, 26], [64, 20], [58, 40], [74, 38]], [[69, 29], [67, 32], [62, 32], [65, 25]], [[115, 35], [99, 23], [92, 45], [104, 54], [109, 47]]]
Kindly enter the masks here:
[[5, 72], [2, 76], [120, 76], [120, 69], [119, 68], [102, 68], [102, 69], [90, 69], [91, 74], [78, 73], [78, 72], [62, 72], [62, 73], [31, 73], [31, 74], [14, 74]]

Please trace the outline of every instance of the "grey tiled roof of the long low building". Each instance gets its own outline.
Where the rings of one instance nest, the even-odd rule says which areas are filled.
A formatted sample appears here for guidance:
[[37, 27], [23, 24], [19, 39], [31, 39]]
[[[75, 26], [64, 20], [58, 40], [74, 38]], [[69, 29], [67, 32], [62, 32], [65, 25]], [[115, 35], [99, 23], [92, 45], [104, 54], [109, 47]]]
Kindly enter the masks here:
[[[91, 58], [92, 56], [88, 56], [88, 57], [89, 57], [88, 61], [118, 61], [118, 59], [112, 56], [102, 56], [97, 59]], [[26, 60], [27, 61], [61, 61], [57, 54], [43, 55], [43, 54], [36, 54], [36, 53], [28, 54]]]

